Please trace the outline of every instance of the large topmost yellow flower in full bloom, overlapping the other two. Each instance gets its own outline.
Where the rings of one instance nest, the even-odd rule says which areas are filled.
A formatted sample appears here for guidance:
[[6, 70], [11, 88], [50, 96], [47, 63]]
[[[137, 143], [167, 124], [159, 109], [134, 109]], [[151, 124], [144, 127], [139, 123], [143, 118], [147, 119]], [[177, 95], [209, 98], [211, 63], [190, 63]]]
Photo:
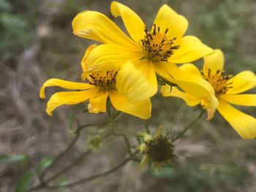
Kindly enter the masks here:
[[129, 101], [142, 101], [157, 93], [157, 76], [160, 76], [178, 84], [187, 93], [195, 96], [201, 94], [210, 108], [217, 107], [211, 85], [176, 66], [195, 61], [214, 51], [197, 37], [184, 37], [188, 26], [186, 18], [164, 4], [151, 30], [148, 30], [143, 20], [124, 4], [113, 1], [111, 12], [115, 17], [121, 16], [131, 38], [100, 12], [80, 12], [72, 21], [75, 35], [103, 43], [94, 47], [83, 59], [82, 66], [86, 66], [83, 67], [84, 72], [120, 69], [127, 61], [132, 61], [145, 81], [141, 84], [127, 75], [123, 76], [122, 82], [134, 87], [143, 86], [144, 90], [140, 91], [146, 91], [147, 94], [134, 94], [132, 88], [127, 90], [125, 86], [118, 88]]

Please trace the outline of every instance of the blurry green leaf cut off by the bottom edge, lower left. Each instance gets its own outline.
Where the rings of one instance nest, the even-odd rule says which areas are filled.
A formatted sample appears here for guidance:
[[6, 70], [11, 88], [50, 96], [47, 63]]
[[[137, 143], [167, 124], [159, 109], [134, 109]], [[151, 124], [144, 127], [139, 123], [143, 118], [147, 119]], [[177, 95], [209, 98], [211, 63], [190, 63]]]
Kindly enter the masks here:
[[34, 172], [26, 172], [18, 181], [18, 184], [15, 188], [15, 192], [26, 192], [29, 190], [30, 185], [34, 179]]

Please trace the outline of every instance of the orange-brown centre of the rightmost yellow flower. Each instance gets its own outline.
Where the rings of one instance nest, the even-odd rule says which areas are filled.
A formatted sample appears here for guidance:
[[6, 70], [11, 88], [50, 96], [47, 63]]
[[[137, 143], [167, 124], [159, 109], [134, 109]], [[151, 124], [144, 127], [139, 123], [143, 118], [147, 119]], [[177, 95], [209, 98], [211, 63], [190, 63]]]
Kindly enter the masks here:
[[[201, 72], [203, 74], [203, 72]], [[211, 72], [211, 69], [208, 69], [208, 74], [203, 74], [205, 80], [211, 83], [214, 88], [215, 94], [217, 96], [227, 93], [229, 88], [232, 88], [232, 82], [227, 82], [230, 80], [232, 75], [223, 75], [225, 70], [217, 70], [216, 74]]]

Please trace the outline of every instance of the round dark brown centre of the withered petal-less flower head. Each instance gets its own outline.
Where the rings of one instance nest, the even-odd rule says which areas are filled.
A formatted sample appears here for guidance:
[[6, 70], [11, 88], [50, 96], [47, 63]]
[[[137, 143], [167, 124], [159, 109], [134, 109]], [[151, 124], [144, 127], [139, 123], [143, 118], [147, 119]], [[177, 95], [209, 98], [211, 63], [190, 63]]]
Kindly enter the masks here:
[[148, 142], [148, 156], [154, 162], [168, 161], [173, 157], [173, 145], [169, 137], [160, 135], [157, 139]]

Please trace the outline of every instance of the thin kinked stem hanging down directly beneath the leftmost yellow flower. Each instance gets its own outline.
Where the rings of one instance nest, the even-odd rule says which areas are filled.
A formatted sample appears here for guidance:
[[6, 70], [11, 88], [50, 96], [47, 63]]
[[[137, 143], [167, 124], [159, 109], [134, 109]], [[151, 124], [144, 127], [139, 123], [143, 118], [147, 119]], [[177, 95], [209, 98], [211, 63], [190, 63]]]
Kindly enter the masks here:
[[115, 122], [114, 122], [113, 116], [111, 115], [110, 102], [108, 102], [108, 104], [107, 104], [107, 110], [108, 110], [108, 120], [110, 121], [110, 128], [111, 128], [112, 134], [116, 137], [123, 137], [124, 142], [127, 145], [127, 150], [128, 150], [129, 156], [132, 157], [133, 153], [131, 150], [131, 145], [129, 144], [129, 139], [127, 138], [127, 136], [125, 134], [118, 134], [115, 131]]

